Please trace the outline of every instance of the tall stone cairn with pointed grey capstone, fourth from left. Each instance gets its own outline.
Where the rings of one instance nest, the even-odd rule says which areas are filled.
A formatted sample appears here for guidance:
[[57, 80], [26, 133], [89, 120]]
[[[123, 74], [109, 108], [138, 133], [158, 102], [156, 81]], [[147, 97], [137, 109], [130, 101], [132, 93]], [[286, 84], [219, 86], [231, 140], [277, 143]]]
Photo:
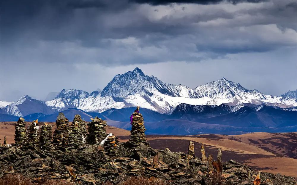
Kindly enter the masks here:
[[59, 148], [68, 147], [69, 139], [69, 123], [68, 119], [64, 116], [62, 112], [59, 112], [59, 115], [56, 120], [56, 130], [53, 135], [53, 144]]

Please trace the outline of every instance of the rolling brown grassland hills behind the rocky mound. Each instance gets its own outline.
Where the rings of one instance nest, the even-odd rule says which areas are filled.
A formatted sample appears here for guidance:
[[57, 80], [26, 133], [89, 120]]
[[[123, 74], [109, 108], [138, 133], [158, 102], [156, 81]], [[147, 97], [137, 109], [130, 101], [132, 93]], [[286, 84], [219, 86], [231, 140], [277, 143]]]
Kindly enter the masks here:
[[[0, 122], [0, 143], [4, 136], [7, 143], [14, 143], [14, 122]], [[29, 125], [29, 122], [27, 123]], [[53, 130], [55, 129], [55, 124]], [[130, 131], [107, 126], [119, 141], [129, 140]], [[189, 141], [195, 144], [195, 154], [200, 156], [200, 145], [205, 144], [206, 156], [210, 153], [216, 158], [217, 149], [222, 148], [223, 161], [230, 159], [247, 164], [252, 168], [269, 173], [281, 173], [297, 177], [297, 133], [247, 133], [242, 135], [203, 134], [192, 136], [147, 135], [151, 147], [169, 148], [171, 151], [187, 152]]]

